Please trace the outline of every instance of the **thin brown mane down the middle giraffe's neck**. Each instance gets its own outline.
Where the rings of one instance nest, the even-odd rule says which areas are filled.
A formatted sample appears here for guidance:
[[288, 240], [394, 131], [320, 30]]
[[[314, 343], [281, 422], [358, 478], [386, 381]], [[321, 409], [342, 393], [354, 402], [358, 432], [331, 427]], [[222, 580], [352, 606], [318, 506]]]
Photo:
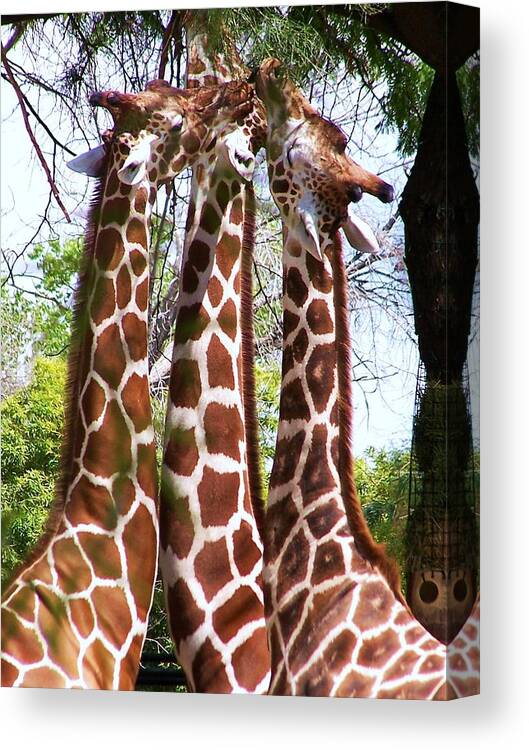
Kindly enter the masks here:
[[242, 402], [250, 498], [259, 535], [264, 539], [264, 488], [260, 466], [254, 371], [252, 259], [255, 244], [255, 193], [251, 183], [246, 187], [244, 203], [241, 250]]

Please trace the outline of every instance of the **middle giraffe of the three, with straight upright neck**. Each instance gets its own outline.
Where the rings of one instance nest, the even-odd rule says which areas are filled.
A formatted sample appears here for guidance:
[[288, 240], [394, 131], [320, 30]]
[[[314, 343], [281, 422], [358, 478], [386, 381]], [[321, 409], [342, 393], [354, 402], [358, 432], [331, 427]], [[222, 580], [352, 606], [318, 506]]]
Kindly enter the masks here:
[[228, 68], [207, 52], [194, 21], [187, 26], [187, 85], [205, 95], [224, 91], [235, 108], [219, 110], [193, 170], [166, 418], [160, 567], [189, 688], [264, 693], [270, 656], [251, 320], [251, 179], [264, 111], [252, 86], [226, 82]]

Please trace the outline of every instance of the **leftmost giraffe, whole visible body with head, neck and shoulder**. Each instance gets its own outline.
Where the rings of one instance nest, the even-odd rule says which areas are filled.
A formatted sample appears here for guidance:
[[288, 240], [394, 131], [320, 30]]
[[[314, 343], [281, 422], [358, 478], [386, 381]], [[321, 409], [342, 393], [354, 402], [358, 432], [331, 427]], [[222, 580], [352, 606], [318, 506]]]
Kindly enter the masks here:
[[195, 156], [180, 133], [201, 102], [164, 81], [90, 101], [110, 111], [114, 130], [70, 164], [100, 179], [75, 296], [61, 477], [2, 604], [4, 686], [132, 689], [153, 595], [150, 214], [157, 185]]

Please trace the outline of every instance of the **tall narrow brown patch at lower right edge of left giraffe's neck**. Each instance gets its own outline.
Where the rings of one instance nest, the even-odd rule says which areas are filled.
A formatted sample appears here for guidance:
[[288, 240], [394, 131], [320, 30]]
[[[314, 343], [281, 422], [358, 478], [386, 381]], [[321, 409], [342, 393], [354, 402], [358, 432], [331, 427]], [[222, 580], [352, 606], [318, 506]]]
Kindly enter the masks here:
[[138, 617], [147, 619], [156, 578], [157, 534], [155, 523], [145, 505], [139, 505], [123, 532], [127, 557], [127, 579]]

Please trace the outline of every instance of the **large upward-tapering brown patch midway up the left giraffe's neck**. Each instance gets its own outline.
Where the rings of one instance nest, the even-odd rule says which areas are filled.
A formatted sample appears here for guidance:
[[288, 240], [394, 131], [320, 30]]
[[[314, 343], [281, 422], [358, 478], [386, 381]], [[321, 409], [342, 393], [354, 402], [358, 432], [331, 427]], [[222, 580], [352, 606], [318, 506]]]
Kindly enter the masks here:
[[131, 462], [129, 429], [118, 402], [112, 399], [101, 426], [88, 437], [83, 463], [92, 474], [110, 477], [117, 472], [127, 474]]

